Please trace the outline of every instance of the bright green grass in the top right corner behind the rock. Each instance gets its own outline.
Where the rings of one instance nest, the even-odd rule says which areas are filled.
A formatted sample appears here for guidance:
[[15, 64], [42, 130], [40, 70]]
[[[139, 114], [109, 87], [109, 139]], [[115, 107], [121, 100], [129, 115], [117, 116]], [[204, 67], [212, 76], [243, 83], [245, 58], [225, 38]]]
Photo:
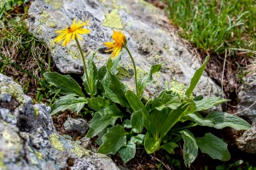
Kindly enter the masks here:
[[180, 35], [205, 52], [225, 49], [256, 54], [256, 2], [252, 0], [166, 0]]

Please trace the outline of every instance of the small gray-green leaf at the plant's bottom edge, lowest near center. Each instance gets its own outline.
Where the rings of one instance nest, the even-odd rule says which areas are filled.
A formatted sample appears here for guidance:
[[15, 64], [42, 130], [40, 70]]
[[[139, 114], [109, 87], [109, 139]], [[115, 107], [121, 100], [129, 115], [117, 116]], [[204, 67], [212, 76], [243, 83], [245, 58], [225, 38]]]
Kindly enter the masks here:
[[131, 141], [128, 142], [126, 146], [123, 146], [119, 149], [119, 156], [126, 163], [130, 161], [136, 154], [136, 144]]

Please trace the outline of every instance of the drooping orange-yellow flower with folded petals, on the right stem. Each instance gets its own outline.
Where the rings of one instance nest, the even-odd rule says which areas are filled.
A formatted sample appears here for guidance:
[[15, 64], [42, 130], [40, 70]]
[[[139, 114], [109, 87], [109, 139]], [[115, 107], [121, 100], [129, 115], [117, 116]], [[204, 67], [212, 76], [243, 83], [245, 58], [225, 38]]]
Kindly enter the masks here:
[[112, 51], [110, 57], [114, 59], [116, 56], [118, 56], [121, 49], [126, 45], [126, 37], [121, 31], [113, 30], [112, 38], [113, 42], [104, 42], [104, 45], [109, 48], [107, 52]]

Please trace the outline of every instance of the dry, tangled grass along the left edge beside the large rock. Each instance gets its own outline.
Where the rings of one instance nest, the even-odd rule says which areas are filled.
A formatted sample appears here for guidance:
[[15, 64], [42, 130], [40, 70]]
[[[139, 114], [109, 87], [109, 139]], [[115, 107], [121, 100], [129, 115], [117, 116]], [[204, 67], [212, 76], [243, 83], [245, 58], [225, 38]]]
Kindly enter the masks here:
[[54, 95], [53, 88], [42, 77], [51, 70], [49, 49], [29, 32], [26, 8], [13, 6], [7, 10], [10, 6], [3, 3], [0, 4], [0, 73], [13, 77], [35, 102], [47, 102]]

